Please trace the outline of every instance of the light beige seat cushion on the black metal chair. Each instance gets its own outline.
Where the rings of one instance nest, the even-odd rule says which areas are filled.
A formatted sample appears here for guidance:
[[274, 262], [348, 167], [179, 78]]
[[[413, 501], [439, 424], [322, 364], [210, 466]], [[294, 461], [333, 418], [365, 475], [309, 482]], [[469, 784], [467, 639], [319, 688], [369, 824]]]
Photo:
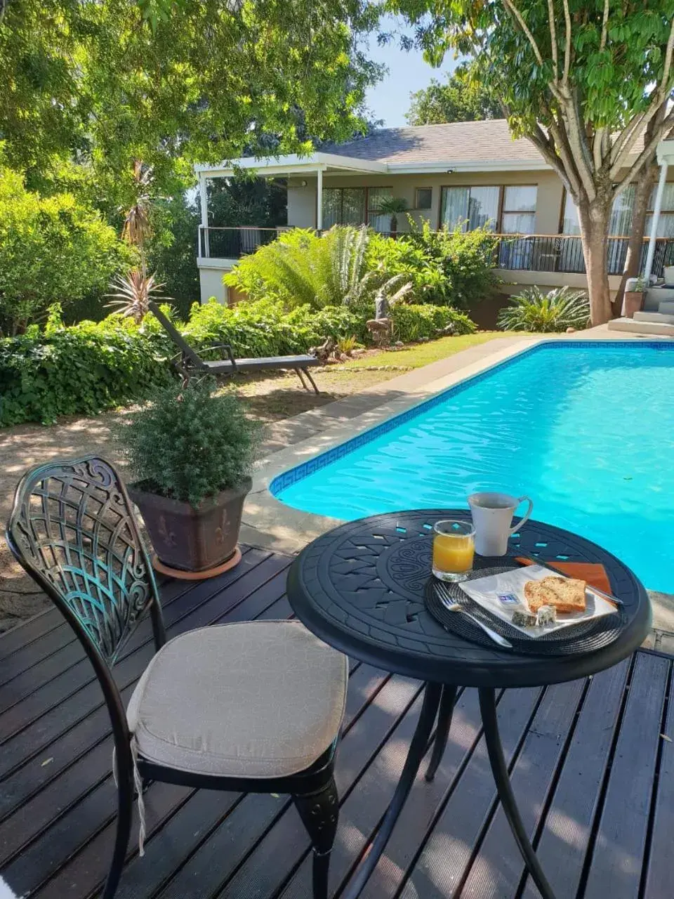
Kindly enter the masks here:
[[305, 770], [333, 743], [348, 663], [296, 621], [198, 628], [148, 664], [127, 718], [138, 755], [240, 778]]

